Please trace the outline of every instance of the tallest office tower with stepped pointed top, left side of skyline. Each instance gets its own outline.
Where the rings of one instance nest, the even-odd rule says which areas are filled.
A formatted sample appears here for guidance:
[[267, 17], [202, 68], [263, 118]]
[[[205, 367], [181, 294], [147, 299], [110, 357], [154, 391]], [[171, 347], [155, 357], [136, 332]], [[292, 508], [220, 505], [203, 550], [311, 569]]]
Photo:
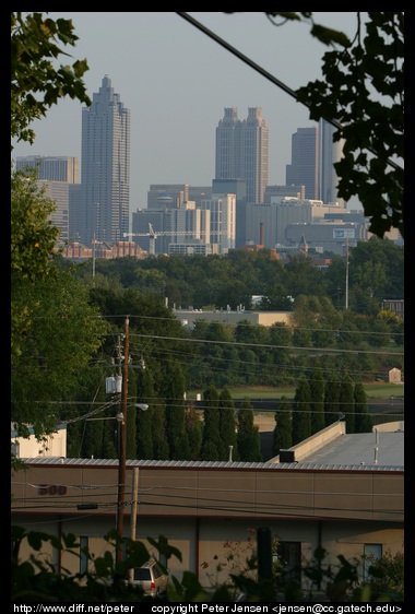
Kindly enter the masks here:
[[126, 240], [130, 208], [130, 109], [105, 75], [91, 107], [82, 109], [81, 241]]

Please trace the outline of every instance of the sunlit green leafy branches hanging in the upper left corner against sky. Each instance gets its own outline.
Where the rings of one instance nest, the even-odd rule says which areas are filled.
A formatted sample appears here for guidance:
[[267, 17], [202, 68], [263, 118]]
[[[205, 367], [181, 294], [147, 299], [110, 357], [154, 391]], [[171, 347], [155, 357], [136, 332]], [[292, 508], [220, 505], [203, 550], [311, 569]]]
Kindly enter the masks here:
[[[86, 60], [56, 66], [59, 56], [70, 57], [60, 45], [76, 46], [72, 20], [54, 21], [43, 13], [11, 13], [11, 135], [34, 142], [31, 123], [45, 117], [64, 96], [87, 106], [83, 82]], [[12, 146], [13, 149], [13, 146]]]

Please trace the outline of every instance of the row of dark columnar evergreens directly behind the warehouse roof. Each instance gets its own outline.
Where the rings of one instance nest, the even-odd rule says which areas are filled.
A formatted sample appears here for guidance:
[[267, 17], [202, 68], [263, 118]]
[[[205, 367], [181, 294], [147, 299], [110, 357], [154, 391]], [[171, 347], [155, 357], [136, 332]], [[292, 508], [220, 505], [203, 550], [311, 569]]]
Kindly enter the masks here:
[[[133, 397], [150, 403], [147, 411], [132, 404], [127, 413], [127, 458], [152, 460], [205, 460], [262, 462], [261, 440], [254, 410], [248, 398], [236, 409], [229, 389], [211, 383], [202, 404], [186, 401], [180, 369], [169, 371], [166, 397], [155, 395], [147, 369], [129, 374]], [[140, 394], [138, 390], [140, 389]], [[153, 400], [153, 401], [152, 401]], [[114, 399], [117, 408], [119, 398]], [[104, 405], [106, 411], [108, 405]], [[94, 414], [96, 415], [96, 414]], [[69, 421], [68, 454], [82, 458], [118, 458], [118, 433], [114, 421], [83, 418]], [[301, 375], [293, 400], [283, 395], [274, 411], [273, 456], [344, 420], [346, 432], [369, 433], [372, 418], [361, 381], [347, 373], [324, 381], [320, 364], [309, 377]], [[99, 421], [97, 421], [99, 422]]]

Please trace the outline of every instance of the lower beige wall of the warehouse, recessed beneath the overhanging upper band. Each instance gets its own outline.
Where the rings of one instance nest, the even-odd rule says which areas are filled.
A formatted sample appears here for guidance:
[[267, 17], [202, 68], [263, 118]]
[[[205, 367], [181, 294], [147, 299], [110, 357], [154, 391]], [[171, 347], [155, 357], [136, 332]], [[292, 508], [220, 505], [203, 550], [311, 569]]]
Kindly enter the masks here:
[[[32, 524], [27, 517], [21, 518], [23, 523], [31, 529], [38, 529], [38, 521]], [[32, 520], [33, 522], [33, 520]], [[104, 556], [107, 551], [115, 554], [103, 535], [115, 527], [114, 519], [95, 515], [94, 519], [63, 519], [61, 523], [56, 518], [42, 524], [42, 531], [49, 534], [73, 532], [78, 538], [88, 536], [88, 547], [94, 557]], [[19, 522], [17, 522], [19, 523]], [[328, 555], [324, 565], [339, 565], [337, 556], [344, 555], [347, 560], [353, 562], [356, 556], [364, 554], [365, 544], [381, 544], [383, 552], [389, 550], [391, 554], [403, 551], [403, 526], [395, 523], [382, 523], [366, 521], [316, 521], [298, 522], [293, 520], [266, 519], [229, 519], [229, 518], [203, 518], [203, 519], [175, 519], [165, 522], [157, 518], [140, 518], [137, 522], [137, 540], [142, 541], [150, 552], [157, 557], [156, 551], [147, 542], [146, 538], [157, 540], [159, 535], [168, 539], [170, 545], [177, 547], [182, 562], [171, 557], [168, 562], [170, 574], [180, 581], [186, 570], [198, 575], [200, 582], [205, 588], [211, 588], [212, 582], [224, 582], [229, 571], [241, 569], [247, 556], [257, 545], [257, 530], [268, 527], [273, 536], [278, 541], [300, 542], [304, 560], [310, 562], [312, 553], [321, 545]], [[130, 522], [124, 523], [124, 534], [130, 536]], [[248, 538], [253, 540], [251, 543]], [[319, 542], [321, 536], [321, 542]], [[225, 555], [229, 550], [235, 553], [235, 568], [225, 566], [222, 572], [217, 572], [216, 566], [220, 562], [225, 563]], [[28, 547], [25, 544], [21, 556], [28, 556]], [[57, 564], [57, 555], [49, 547], [44, 547], [44, 556], [47, 560]], [[216, 558], [217, 557], [217, 558]], [[61, 565], [75, 574], [80, 570], [79, 558], [72, 554], [64, 553]], [[305, 582], [306, 579], [305, 579]]]

